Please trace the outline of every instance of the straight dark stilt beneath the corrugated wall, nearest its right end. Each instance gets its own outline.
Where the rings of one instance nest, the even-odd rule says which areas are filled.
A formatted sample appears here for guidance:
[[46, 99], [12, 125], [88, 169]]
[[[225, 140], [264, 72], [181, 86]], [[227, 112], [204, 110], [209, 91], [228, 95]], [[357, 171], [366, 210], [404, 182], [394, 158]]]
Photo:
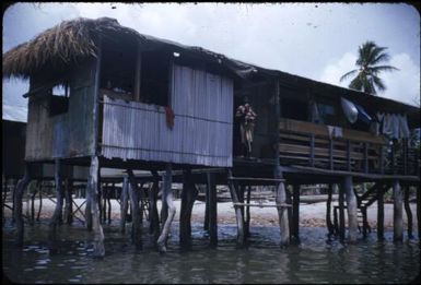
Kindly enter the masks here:
[[209, 188], [209, 242], [211, 247], [218, 245], [218, 201], [214, 174], [207, 174]]

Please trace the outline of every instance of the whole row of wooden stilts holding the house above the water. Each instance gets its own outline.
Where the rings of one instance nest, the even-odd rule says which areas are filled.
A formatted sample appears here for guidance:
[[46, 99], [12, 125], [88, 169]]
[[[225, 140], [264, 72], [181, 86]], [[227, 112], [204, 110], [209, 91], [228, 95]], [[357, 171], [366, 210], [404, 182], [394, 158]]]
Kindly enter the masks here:
[[[55, 237], [57, 229], [58, 221], [63, 205], [63, 190], [61, 187], [61, 176], [60, 176], [60, 166], [61, 163], [56, 161], [55, 168], [55, 179], [56, 179], [56, 190], [57, 190], [57, 204], [54, 212], [50, 228], [51, 228], [51, 238]], [[122, 193], [121, 193], [121, 221], [120, 229], [124, 233], [126, 229], [126, 213], [128, 207], [128, 201], [130, 200], [131, 213], [132, 213], [132, 229], [131, 237], [132, 241], [137, 249], [142, 248], [142, 209], [144, 207], [143, 202], [145, 197], [143, 191], [139, 191], [138, 185], [135, 179], [133, 173], [129, 169], [127, 177], [125, 178]], [[159, 195], [159, 174], [157, 171], [152, 171], [153, 176], [153, 186], [149, 193], [149, 213], [150, 213], [150, 224], [149, 231], [152, 234], [156, 248], [161, 252], [166, 251], [166, 241], [168, 238], [171, 224], [176, 214], [176, 207], [173, 203], [173, 191], [172, 191], [172, 165], [167, 164], [165, 174], [163, 176], [163, 188], [162, 188], [162, 211], [161, 211], [161, 223], [162, 228], [160, 227], [160, 217], [156, 207], [156, 201]], [[227, 177], [232, 177], [231, 170], [227, 173]], [[292, 195], [292, 206], [291, 206], [291, 197], [289, 191], [285, 189], [285, 183], [282, 179], [282, 173], [280, 170], [276, 171], [274, 178], [279, 180], [277, 182], [276, 190], [276, 205], [278, 209], [279, 216], [279, 226], [281, 233], [281, 247], [288, 246], [291, 241], [300, 241], [300, 186], [293, 185], [293, 195]], [[93, 231], [93, 245], [94, 245], [94, 256], [103, 257], [105, 254], [104, 249], [104, 233], [101, 225], [100, 209], [98, 209], [98, 185], [100, 185], [100, 163], [98, 158], [94, 156], [92, 158], [90, 177], [87, 181], [87, 191], [86, 191], [86, 227]], [[276, 180], [274, 179], [274, 180]], [[23, 218], [22, 218], [22, 194], [24, 189], [27, 187], [31, 180], [31, 167], [26, 165], [26, 171], [23, 179], [21, 179], [16, 187], [16, 193], [14, 195], [14, 204], [17, 205], [14, 211], [14, 219], [16, 224], [16, 244], [23, 245]], [[184, 187], [182, 192], [182, 209], [180, 209], [180, 246], [183, 248], [189, 248], [191, 246], [191, 210], [194, 202], [197, 198], [198, 190], [195, 186], [192, 175], [190, 170], [184, 171]], [[244, 189], [245, 187], [238, 188], [238, 185], [235, 185], [233, 180], [227, 181], [231, 197], [234, 202], [234, 209], [236, 214], [237, 223], [237, 245], [243, 247], [249, 236], [249, 207], [242, 206], [244, 203]], [[130, 186], [130, 187], [129, 187]], [[330, 193], [331, 194], [331, 188]], [[420, 222], [420, 189], [417, 191], [418, 195], [418, 206], [417, 206], [417, 216], [418, 222]], [[218, 223], [217, 223], [217, 189], [214, 176], [210, 173], [207, 174], [207, 213], [208, 218], [206, 222], [206, 227], [210, 234], [210, 245], [218, 245]], [[250, 197], [250, 187], [247, 192], [247, 203], [249, 203]], [[331, 195], [329, 195], [331, 197]], [[394, 180], [393, 182], [393, 197], [394, 197], [394, 240], [401, 241], [404, 238], [404, 224], [402, 224], [402, 191], [399, 183], [399, 180]], [[406, 198], [406, 201], [408, 199]], [[139, 205], [140, 201], [140, 205]], [[334, 227], [330, 221], [330, 199], [327, 202], [327, 227], [329, 234], [334, 234]], [[347, 201], [347, 206], [344, 206], [344, 201]], [[247, 204], [246, 203], [246, 204]], [[93, 206], [95, 205], [95, 206]], [[341, 187], [339, 188], [339, 230], [338, 235], [341, 240], [346, 239], [346, 228], [344, 228], [344, 209], [348, 212], [348, 241], [354, 244], [358, 240], [358, 219], [356, 219], [356, 198], [353, 191], [353, 179], [352, 176], [344, 176]], [[407, 206], [406, 206], [407, 207]], [[407, 211], [408, 213], [408, 211]], [[292, 217], [292, 218], [291, 218]], [[378, 195], [378, 214], [377, 214], [377, 235], [379, 239], [383, 239], [384, 235], [384, 203], [383, 194]], [[420, 227], [418, 227], [420, 235]]]

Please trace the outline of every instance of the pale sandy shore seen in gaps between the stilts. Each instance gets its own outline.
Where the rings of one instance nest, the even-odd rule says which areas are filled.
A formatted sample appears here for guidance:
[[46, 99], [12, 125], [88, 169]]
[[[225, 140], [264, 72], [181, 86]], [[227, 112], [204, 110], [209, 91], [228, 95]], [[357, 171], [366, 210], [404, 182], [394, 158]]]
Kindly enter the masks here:
[[[84, 199], [73, 200], [78, 205], [82, 204]], [[179, 219], [180, 212], [180, 200], [175, 200], [177, 213], [175, 221]], [[265, 204], [273, 204], [273, 202], [266, 202]], [[35, 200], [35, 215], [38, 211], [39, 200]], [[204, 221], [204, 202], [196, 201], [191, 221], [196, 223], [202, 223]], [[335, 203], [332, 203], [335, 205]], [[159, 209], [161, 209], [160, 201], [157, 202]], [[413, 231], [418, 228], [417, 224], [417, 204], [411, 203], [411, 211], [413, 215]], [[55, 203], [48, 199], [43, 199], [43, 207], [40, 212], [42, 218], [50, 218], [52, 216]], [[81, 207], [84, 213], [84, 205]], [[73, 205], [73, 211], [75, 206]], [[120, 205], [116, 200], [112, 200], [112, 221], [116, 222], [120, 219]], [[11, 215], [11, 211], [7, 207], [3, 210], [4, 217]], [[31, 203], [23, 202], [23, 212], [28, 214], [31, 211]], [[77, 213], [79, 217], [82, 217], [80, 213]], [[347, 216], [347, 215], [346, 215]], [[377, 204], [372, 204], [367, 210], [369, 224], [372, 227], [376, 226], [377, 221]], [[391, 228], [394, 219], [394, 205], [390, 203], [385, 204], [385, 227]], [[75, 219], [77, 221], [77, 219]], [[235, 224], [235, 212], [232, 202], [220, 202], [218, 203], [218, 224]], [[276, 207], [250, 207], [250, 224], [254, 226], [277, 226], [278, 225], [278, 213]], [[407, 215], [404, 210], [404, 225], [407, 226]], [[306, 227], [324, 227], [326, 226], [326, 202], [318, 202], [312, 204], [300, 204], [300, 226]]]

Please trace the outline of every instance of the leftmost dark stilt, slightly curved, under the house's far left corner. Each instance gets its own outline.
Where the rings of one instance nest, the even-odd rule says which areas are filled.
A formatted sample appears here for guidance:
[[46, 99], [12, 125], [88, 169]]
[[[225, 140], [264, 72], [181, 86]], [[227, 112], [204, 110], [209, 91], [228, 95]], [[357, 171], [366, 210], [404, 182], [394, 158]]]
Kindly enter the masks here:
[[28, 163], [25, 163], [25, 175], [21, 180], [19, 180], [17, 186], [15, 187], [15, 193], [14, 193], [14, 222], [16, 225], [16, 239], [15, 245], [19, 247], [23, 246], [23, 231], [24, 231], [24, 224], [23, 224], [23, 217], [22, 217], [22, 195], [23, 192], [26, 190], [27, 185], [31, 181], [31, 165]]

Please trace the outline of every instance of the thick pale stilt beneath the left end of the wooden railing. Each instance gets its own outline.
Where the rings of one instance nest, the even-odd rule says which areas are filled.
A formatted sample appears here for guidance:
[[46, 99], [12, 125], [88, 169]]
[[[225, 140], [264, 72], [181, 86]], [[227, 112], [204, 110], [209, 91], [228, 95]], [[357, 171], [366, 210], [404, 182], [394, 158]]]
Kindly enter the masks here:
[[[281, 167], [278, 165], [274, 170], [274, 178], [282, 179]], [[288, 221], [288, 209], [281, 206], [286, 204], [286, 193], [284, 182], [279, 182], [277, 187], [277, 198], [276, 202], [278, 205], [278, 216], [279, 216], [279, 227], [281, 230], [281, 247], [286, 247], [290, 244], [290, 226]]]

